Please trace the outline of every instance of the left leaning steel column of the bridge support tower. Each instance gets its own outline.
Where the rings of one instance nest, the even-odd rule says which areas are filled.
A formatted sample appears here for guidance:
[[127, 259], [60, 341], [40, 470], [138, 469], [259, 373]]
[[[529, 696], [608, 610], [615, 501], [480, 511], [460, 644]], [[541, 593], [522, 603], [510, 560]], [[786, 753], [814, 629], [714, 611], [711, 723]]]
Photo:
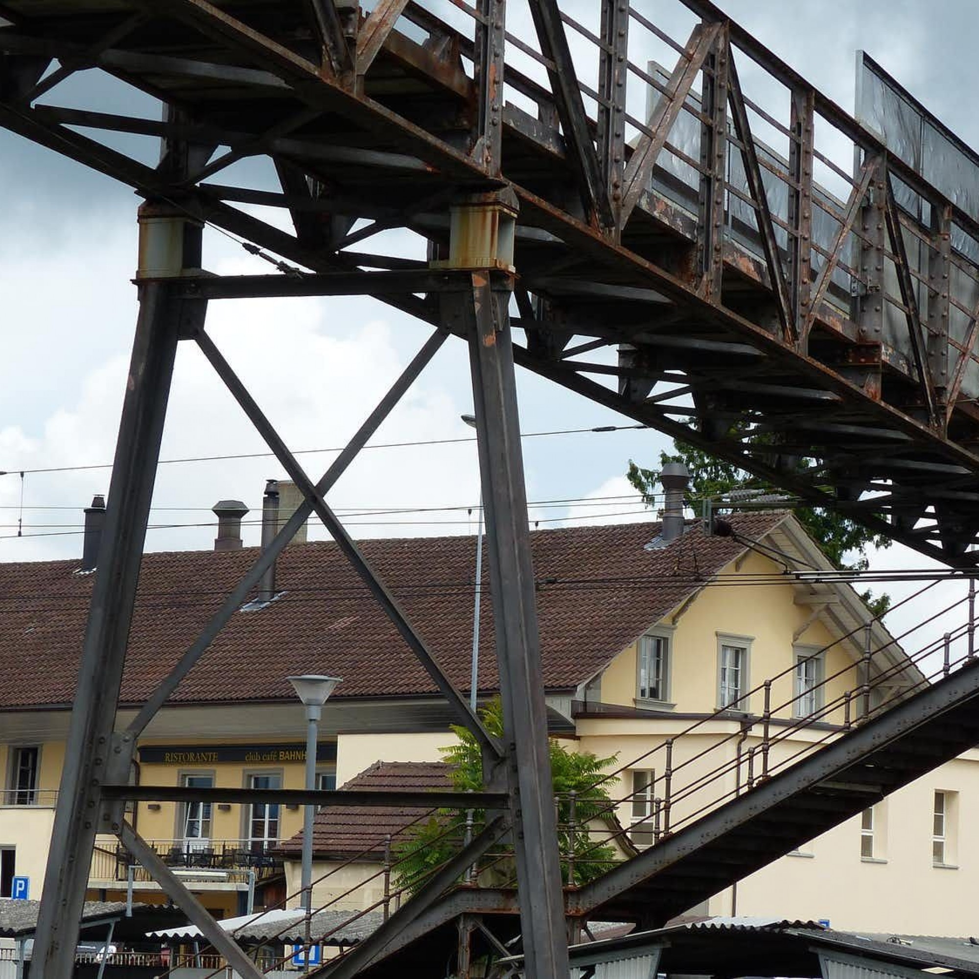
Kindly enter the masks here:
[[[184, 231], [180, 261], [190, 244], [196, 247], [199, 262], [200, 228], [186, 221], [179, 224]], [[196, 239], [196, 245], [188, 238]], [[193, 259], [188, 256], [187, 260]], [[102, 811], [101, 785], [106, 780], [111, 755], [110, 741], [181, 321], [188, 306], [196, 306], [201, 313], [204, 309], [203, 301], [178, 300], [173, 292], [174, 286], [165, 281], [140, 285], [139, 318], [122, 405], [106, 526], [82, 647], [34, 946], [34, 967], [46, 979], [70, 979], [95, 835], [119, 828], [110, 814]]]

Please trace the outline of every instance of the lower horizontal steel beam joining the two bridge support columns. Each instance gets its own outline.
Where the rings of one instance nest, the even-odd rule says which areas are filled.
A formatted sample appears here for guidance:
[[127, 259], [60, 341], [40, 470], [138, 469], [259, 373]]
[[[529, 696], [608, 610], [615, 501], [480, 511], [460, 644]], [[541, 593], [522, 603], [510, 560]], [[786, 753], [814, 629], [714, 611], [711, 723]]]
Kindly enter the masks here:
[[246, 803], [265, 802], [287, 805], [363, 806], [368, 809], [500, 809], [505, 808], [505, 792], [429, 792], [396, 789], [390, 792], [368, 792], [355, 789], [251, 789], [251, 788], [188, 788], [183, 785], [116, 785], [102, 786], [102, 796], [108, 800], [132, 802], [202, 802]]

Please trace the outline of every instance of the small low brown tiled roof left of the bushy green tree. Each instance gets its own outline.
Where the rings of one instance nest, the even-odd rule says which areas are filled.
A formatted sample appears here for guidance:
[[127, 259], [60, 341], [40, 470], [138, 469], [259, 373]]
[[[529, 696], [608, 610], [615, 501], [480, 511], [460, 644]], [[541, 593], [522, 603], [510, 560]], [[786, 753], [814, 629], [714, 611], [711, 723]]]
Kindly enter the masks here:
[[[451, 789], [451, 767], [443, 762], [375, 762], [369, 769], [354, 775], [342, 786], [365, 792], [412, 792], [426, 789]], [[381, 855], [391, 836], [396, 843], [405, 827], [425, 821], [429, 810], [402, 806], [397, 809], [368, 806], [330, 806], [321, 809], [313, 821], [312, 850], [314, 856], [353, 857], [358, 854]], [[279, 848], [283, 854], [298, 857], [303, 846], [303, 833], [297, 833]]]

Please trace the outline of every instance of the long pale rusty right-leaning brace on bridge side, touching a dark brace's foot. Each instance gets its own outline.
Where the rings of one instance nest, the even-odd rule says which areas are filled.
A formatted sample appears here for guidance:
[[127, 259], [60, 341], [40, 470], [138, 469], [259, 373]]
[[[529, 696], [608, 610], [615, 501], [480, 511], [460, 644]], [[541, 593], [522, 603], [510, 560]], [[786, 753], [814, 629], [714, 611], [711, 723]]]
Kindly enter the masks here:
[[[638, 204], [639, 197], [649, 183], [650, 174], [659, 159], [663, 145], [670, 135], [676, 119], [683, 111], [683, 103], [690, 94], [690, 89], [708, 54], [717, 43], [718, 37], [722, 33], [721, 23], [698, 23], [690, 34], [690, 39], [686, 42], [683, 54], [676, 62], [676, 68], [667, 83], [667, 92], [659, 93], [659, 101], [653, 110], [649, 121], [646, 123], [649, 132], [644, 132], [629, 157], [626, 166], [626, 174], [623, 179], [625, 191], [623, 193], [622, 213], [620, 221], [623, 227], [629, 220], [629, 214]], [[721, 139], [726, 137], [721, 134]]]

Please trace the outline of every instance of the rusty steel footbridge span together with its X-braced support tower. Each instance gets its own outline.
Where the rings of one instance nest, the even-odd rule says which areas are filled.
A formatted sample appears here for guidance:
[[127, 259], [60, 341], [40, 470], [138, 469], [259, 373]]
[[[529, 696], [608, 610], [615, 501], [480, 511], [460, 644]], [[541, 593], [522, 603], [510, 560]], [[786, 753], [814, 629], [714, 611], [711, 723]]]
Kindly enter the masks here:
[[[140, 731], [311, 513], [477, 732], [491, 772], [483, 802], [504, 814], [406, 907], [424, 909], [509, 831], [529, 974], [567, 975], [514, 365], [923, 554], [974, 566], [976, 217], [706, 0], [676, 0], [690, 24], [679, 37], [644, 5], [590, 6], [589, 27], [558, 0], [511, 0], [509, 12], [504, 0], [377, 0], [369, 12], [356, 0], [0, 2], [0, 124], [146, 202], [130, 386], [35, 948], [48, 979], [70, 974], [88, 858], [105, 829], [241, 974], [256, 974], [125, 822], [120, 786]], [[88, 69], [159, 99], [163, 117], [59, 105], [59, 86]], [[774, 108], [742, 86], [749, 73], [777, 93]], [[159, 138], [160, 162], [114, 149], [119, 134]], [[274, 164], [278, 186], [220, 182], [255, 156]], [[256, 205], [288, 212], [293, 230], [256, 217]], [[205, 273], [205, 224], [279, 271]], [[359, 251], [392, 228], [420, 236], [425, 254]], [[436, 332], [315, 482], [211, 343], [206, 308], [350, 294]], [[450, 334], [472, 366], [502, 743], [324, 498]], [[204, 351], [306, 504], [116, 730], [181, 341]], [[418, 913], [395, 915], [386, 934]]]

